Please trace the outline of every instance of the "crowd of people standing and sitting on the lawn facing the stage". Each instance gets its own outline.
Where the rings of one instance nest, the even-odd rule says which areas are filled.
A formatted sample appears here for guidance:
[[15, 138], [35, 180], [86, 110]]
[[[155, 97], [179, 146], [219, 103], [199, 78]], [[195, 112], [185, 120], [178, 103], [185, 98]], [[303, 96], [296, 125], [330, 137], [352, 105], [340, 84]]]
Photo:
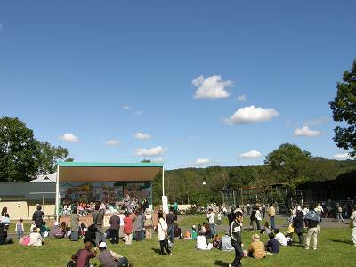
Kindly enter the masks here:
[[[297, 242], [305, 249], [318, 248], [318, 235], [320, 233], [320, 222], [324, 212], [323, 207], [300, 206], [295, 203], [290, 208], [290, 217], [287, 218], [287, 231], [281, 232], [276, 227], [274, 218], [276, 215], [273, 204], [268, 206], [256, 204], [247, 206], [247, 216], [250, 221], [250, 230], [258, 230], [252, 235], [252, 241], [243, 250], [242, 231], [243, 231], [243, 210], [241, 208], [231, 208], [230, 213], [226, 206], [207, 206], [206, 221], [193, 225], [190, 231], [186, 231], [184, 236], [181, 229], [177, 226], [177, 206], [171, 206], [169, 212], [164, 214], [158, 210], [157, 223], [153, 222], [152, 214], [149, 209], [135, 208], [131, 213], [126, 207], [125, 214], [119, 214], [116, 210], [109, 217], [109, 229], [104, 231], [104, 215], [106, 206], [103, 203], [96, 203], [93, 206], [91, 216], [93, 223], [89, 226], [80, 222], [80, 215], [77, 207], [70, 212], [69, 223], [64, 221], [54, 223], [50, 229], [44, 222], [44, 212], [42, 206], [37, 205], [36, 211], [32, 216], [32, 225], [29, 235], [25, 235], [23, 220], [20, 219], [15, 225], [15, 233], [19, 243], [26, 246], [43, 246], [45, 238], [53, 237], [57, 239], [68, 238], [71, 241], [83, 239], [84, 248], [79, 249], [71, 257], [69, 266], [88, 266], [91, 258], [98, 258], [101, 266], [133, 266], [129, 260], [108, 249], [107, 240], [112, 244], [118, 244], [120, 227], [123, 227], [125, 245], [131, 245], [133, 239], [140, 242], [144, 239], [151, 239], [153, 231], [158, 233], [159, 253], [161, 255], [173, 255], [174, 238], [196, 240], [196, 248], [199, 250], [212, 250], [214, 247], [222, 251], [234, 251], [235, 258], [230, 266], [241, 266], [243, 257], [253, 257], [261, 259], [267, 255], [279, 254], [280, 246], [287, 247], [292, 244], [294, 235]], [[341, 213], [341, 212], [339, 212]], [[226, 216], [229, 221], [229, 231], [220, 237], [216, 230], [216, 224], [222, 222], [222, 216]], [[263, 217], [268, 215], [269, 220], [262, 223]], [[342, 215], [337, 214], [338, 218]], [[12, 239], [7, 236], [10, 225], [10, 215], [4, 207], [0, 219], [0, 245], [12, 243]], [[350, 216], [350, 227], [352, 228], [352, 242], [356, 246], [356, 206], [352, 206]], [[261, 235], [268, 236], [267, 242], [263, 244]], [[295, 240], [296, 241], [296, 240]], [[312, 246], [311, 246], [312, 241]]]

